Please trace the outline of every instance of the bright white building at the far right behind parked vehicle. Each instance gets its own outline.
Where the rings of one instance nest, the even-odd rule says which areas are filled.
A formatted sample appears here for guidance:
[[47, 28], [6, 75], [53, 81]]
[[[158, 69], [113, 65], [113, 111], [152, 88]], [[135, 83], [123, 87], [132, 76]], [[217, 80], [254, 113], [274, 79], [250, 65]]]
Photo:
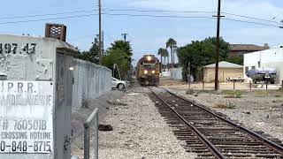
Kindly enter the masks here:
[[244, 72], [258, 68], [275, 69], [277, 71], [275, 82], [281, 83], [283, 80], [283, 46], [244, 54]]

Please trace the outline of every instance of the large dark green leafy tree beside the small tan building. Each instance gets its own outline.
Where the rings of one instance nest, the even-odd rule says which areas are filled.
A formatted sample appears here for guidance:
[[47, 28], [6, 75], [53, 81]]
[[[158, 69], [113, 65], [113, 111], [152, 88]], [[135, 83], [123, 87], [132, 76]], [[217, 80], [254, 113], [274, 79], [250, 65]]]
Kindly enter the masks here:
[[[203, 41], [193, 41], [184, 47], [177, 49], [180, 64], [183, 67], [183, 79], [187, 80], [187, 66], [194, 79], [202, 79], [203, 66], [215, 63], [215, 37], [209, 37]], [[220, 39], [219, 61], [226, 60], [230, 50], [230, 45], [222, 38]]]

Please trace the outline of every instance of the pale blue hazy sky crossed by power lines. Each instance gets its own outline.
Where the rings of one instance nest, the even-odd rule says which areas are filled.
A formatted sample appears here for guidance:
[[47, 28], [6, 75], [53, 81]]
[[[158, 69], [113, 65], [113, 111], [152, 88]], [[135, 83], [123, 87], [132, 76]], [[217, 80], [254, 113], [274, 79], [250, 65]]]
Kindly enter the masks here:
[[[59, 23], [67, 26], [66, 42], [80, 50], [87, 50], [99, 32], [98, 0], [9, 0], [2, 2], [1, 6], [0, 34], [43, 36], [45, 23]], [[122, 39], [122, 33], [128, 34], [127, 41], [134, 50], [136, 64], [143, 54], [157, 54], [157, 50], [164, 48], [170, 37], [180, 47], [191, 41], [216, 36], [217, 21], [212, 15], [217, 14], [217, 6], [217, 0], [102, 0], [105, 48], [111, 42]], [[280, 23], [283, 19], [283, 1], [222, 0], [221, 11], [226, 17], [221, 19], [220, 35], [226, 42], [268, 43], [271, 47], [283, 43], [283, 29], [279, 28], [283, 26]], [[64, 14], [50, 15], [54, 13]], [[87, 16], [75, 17], [81, 15]]]

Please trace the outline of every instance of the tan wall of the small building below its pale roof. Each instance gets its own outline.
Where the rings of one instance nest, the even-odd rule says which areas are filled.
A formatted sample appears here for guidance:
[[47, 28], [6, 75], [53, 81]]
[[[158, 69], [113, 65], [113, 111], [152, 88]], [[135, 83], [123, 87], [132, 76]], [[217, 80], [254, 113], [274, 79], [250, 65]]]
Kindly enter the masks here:
[[[219, 68], [218, 78], [220, 81], [226, 81], [227, 78], [242, 77], [242, 68]], [[215, 79], [215, 68], [204, 68], [204, 82], [212, 82]]]

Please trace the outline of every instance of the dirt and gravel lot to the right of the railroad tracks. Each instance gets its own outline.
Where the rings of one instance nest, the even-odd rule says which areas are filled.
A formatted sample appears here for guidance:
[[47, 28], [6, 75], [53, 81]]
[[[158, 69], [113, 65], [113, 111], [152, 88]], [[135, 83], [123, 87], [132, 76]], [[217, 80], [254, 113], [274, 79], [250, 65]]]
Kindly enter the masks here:
[[263, 131], [283, 141], [283, 91], [280, 90], [194, 90], [163, 81], [165, 88], [208, 106], [249, 129]]

